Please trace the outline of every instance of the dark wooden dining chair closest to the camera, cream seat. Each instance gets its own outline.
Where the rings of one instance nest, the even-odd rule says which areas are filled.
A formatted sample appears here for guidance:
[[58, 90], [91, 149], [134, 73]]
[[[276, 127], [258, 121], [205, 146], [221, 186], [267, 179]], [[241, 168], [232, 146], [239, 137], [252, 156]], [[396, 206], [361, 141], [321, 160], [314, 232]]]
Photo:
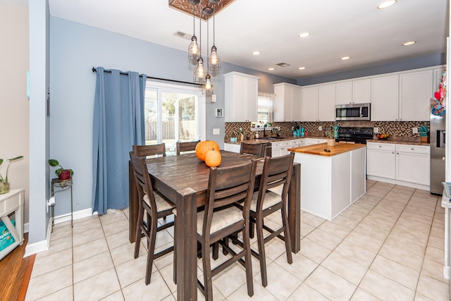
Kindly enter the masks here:
[[[254, 295], [252, 283], [251, 248], [249, 240], [249, 206], [254, 190], [257, 161], [228, 167], [211, 167], [209, 183], [206, 192], [204, 211], [197, 213], [197, 241], [202, 245], [202, 265], [204, 283], [198, 279], [197, 287], [206, 300], [213, 300], [213, 285], [211, 278], [226, 269], [227, 266], [240, 261], [245, 266], [247, 294]], [[243, 207], [231, 204], [244, 199]], [[239, 252], [231, 250], [223, 241], [233, 233], [242, 232], [243, 247]], [[211, 269], [210, 246], [219, 242], [228, 250], [229, 258]], [[215, 251], [213, 251], [215, 252]], [[244, 263], [242, 258], [244, 257]], [[240, 260], [241, 259], [241, 260]]]

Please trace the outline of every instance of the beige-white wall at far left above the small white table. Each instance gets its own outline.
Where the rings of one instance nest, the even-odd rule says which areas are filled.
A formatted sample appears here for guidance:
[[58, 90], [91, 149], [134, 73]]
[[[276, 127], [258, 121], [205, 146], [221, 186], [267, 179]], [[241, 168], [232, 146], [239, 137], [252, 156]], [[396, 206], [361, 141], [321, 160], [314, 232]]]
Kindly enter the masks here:
[[[0, 158], [23, 155], [11, 164], [11, 189], [25, 189], [25, 223], [28, 222], [28, 6], [20, 1], [0, 1]], [[8, 162], [0, 166], [5, 176]]]

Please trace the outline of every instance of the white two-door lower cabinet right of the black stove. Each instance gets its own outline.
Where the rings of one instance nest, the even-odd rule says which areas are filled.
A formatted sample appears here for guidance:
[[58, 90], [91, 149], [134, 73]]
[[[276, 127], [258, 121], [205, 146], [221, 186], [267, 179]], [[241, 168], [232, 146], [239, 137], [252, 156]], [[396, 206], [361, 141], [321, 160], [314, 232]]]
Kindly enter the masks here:
[[428, 190], [430, 147], [369, 142], [366, 175], [370, 180]]

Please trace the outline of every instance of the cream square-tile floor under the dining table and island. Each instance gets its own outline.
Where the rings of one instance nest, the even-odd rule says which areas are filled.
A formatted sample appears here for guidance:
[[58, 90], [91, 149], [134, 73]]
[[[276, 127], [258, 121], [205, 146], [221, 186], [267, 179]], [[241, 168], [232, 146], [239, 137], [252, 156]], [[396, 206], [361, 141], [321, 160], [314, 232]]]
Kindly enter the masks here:
[[[291, 265], [280, 240], [266, 245], [268, 286], [253, 259], [252, 299], [237, 264], [214, 277], [214, 300], [449, 300], [444, 216], [427, 191], [367, 181], [366, 195], [333, 221], [302, 213], [301, 251]], [[172, 239], [168, 229], [157, 247]], [[50, 250], [37, 254], [26, 300], [175, 300], [172, 253], [154, 262], [146, 286], [146, 250], [133, 259], [133, 247], [127, 209], [74, 221], [73, 228], [57, 224]]]

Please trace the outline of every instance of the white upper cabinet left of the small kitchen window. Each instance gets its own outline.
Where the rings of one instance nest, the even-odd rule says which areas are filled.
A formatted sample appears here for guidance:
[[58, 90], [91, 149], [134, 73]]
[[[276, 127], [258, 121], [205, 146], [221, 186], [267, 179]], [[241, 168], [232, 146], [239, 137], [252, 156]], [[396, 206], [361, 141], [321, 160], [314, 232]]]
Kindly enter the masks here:
[[226, 122], [257, 121], [259, 78], [245, 73], [224, 74]]

